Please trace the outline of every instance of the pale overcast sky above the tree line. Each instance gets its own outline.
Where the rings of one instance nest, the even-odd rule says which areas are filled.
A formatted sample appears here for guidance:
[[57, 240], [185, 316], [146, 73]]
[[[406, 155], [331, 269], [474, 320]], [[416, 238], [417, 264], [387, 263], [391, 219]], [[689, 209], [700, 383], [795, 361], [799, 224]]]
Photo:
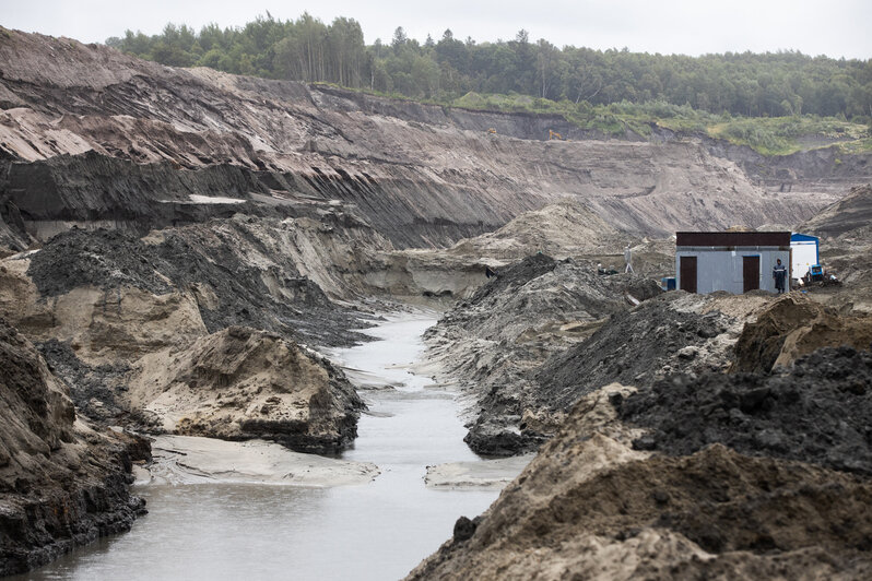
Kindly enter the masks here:
[[8, 28], [69, 36], [85, 43], [121, 36], [128, 28], [157, 34], [167, 22], [196, 29], [215, 22], [241, 26], [269, 11], [296, 19], [304, 11], [329, 23], [357, 20], [366, 43], [390, 42], [397, 26], [423, 42], [446, 28], [456, 38], [530, 39], [557, 46], [702, 55], [797, 49], [806, 55], [872, 58], [872, 0], [0, 0]]

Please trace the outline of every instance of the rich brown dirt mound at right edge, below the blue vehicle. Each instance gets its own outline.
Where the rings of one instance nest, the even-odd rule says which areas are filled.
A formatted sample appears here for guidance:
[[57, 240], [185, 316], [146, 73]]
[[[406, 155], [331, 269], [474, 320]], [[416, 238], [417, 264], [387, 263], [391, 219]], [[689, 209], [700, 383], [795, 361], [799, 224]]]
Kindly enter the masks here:
[[802, 295], [775, 301], [745, 325], [735, 344], [733, 371], [769, 372], [821, 347], [872, 345], [872, 315], [840, 316]]

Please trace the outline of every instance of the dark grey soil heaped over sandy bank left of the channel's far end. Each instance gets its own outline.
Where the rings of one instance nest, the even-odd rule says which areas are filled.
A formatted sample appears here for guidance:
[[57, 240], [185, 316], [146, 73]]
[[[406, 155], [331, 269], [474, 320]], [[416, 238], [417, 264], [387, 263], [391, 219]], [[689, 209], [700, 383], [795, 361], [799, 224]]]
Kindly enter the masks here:
[[[245, 236], [245, 232], [236, 228], [234, 235]], [[244, 261], [233, 237], [212, 232], [209, 225], [167, 229], [157, 245], [120, 230], [74, 228], [51, 238], [35, 253], [27, 274], [44, 296], [89, 285], [132, 286], [153, 294], [205, 285], [217, 299], [200, 303], [209, 332], [237, 324], [331, 346], [364, 339], [347, 331], [361, 327], [355, 317], [331, 303], [293, 262], [286, 260], [275, 272], [264, 273]], [[264, 278], [275, 281], [281, 300]]]

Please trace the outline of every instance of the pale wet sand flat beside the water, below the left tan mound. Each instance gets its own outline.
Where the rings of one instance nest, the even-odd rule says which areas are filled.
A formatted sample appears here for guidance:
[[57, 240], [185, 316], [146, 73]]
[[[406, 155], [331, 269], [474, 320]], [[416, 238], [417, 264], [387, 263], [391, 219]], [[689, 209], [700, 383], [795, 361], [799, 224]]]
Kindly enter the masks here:
[[137, 484], [273, 484], [331, 487], [366, 484], [378, 474], [368, 462], [293, 452], [263, 440], [231, 442], [192, 436], [157, 436], [154, 461]]

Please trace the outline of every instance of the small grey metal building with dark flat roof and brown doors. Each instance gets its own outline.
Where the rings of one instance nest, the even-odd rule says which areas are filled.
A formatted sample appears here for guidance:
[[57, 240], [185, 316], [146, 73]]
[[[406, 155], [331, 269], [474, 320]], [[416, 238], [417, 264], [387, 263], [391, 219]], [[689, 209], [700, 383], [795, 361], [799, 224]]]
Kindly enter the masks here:
[[[676, 286], [688, 293], [775, 292], [776, 260], [790, 268], [789, 232], [679, 232]], [[789, 290], [790, 275], [785, 284]]]

